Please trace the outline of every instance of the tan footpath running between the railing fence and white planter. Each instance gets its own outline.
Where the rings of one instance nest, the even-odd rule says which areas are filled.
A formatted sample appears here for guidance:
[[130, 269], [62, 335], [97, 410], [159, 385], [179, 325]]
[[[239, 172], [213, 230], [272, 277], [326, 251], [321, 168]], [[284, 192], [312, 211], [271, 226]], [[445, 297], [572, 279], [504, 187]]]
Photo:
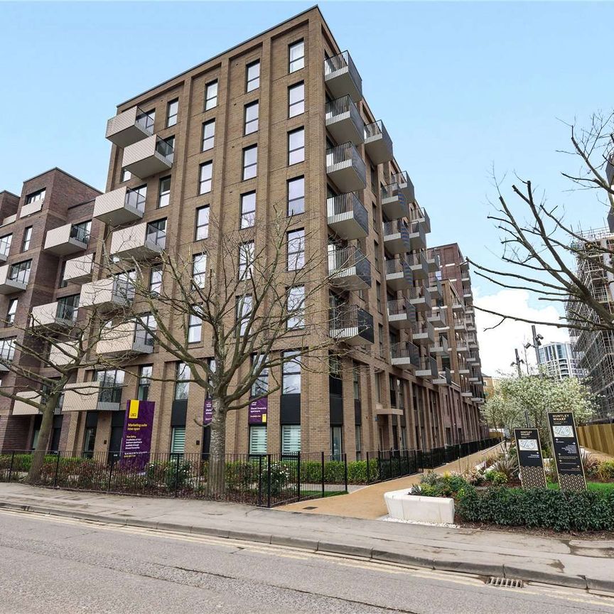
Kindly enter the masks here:
[[[469, 456], [464, 456], [453, 463], [441, 465], [435, 471], [436, 473], [446, 473], [446, 471], [463, 473], [465, 469], [475, 467], [481, 460], [491, 456], [497, 450], [500, 450], [499, 445], [488, 450], [470, 454]], [[421, 477], [421, 473], [406, 475], [404, 478], [397, 478], [397, 480], [388, 480], [387, 482], [365, 486], [365, 488], [350, 492], [349, 495], [335, 495], [335, 497], [325, 497], [315, 501], [301, 501], [291, 503], [290, 505], [283, 505], [277, 509], [286, 512], [306, 512], [309, 514], [327, 514], [352, 518], [381, 518], [387, 514], [384, 492], [401, 490], [402, 488], [409, 490], [414, 484], [420, 482]]]

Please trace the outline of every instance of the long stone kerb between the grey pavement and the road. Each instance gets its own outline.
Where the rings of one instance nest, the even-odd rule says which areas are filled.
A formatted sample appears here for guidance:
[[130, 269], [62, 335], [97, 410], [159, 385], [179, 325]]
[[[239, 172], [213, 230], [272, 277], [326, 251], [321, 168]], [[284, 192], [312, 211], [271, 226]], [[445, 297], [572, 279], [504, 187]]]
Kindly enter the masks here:
[[301, 537], [215, 529], [213, 527], [192, 527], [185, 524], [154, 522], [153, 520], [145, 520], [140, 518], [116, 518], [112, 516], [104, 516], [102, 514], [92, 514], [91, 512], [81, 512], [80, 510], [65, 510], [61, 507], [47, 507], [45, 505], [30, 505], [26, 503], [14, 503], [8, 501], [0, 501], [0, 509], [75, 518], [78, 520], [88, 520], [90, 522], [99, 522], [102, 524], [117, 524], [119, 526], [155, 529], [158, 531], [200, 534], [224, 539], [237, 539], [238, 541], [244, 542], [258, 542], [276, 546], [289, 546], [312, 552], [319, 551], [327, 554], [340, 554], [342, 556], [360, 556], [361, 558], [372, 561], [383, 561], [386, 563], [423, 567], [427, 569], [438, 569], [441, 571], [475, 573], [480, 576], [502, 576], [505, 578], [515, 578], [527, 582], [546, 583], [554, 586], [566, 586], [569, 588], [583, 589], [589, 588], [598, 591], [614, 592], [614, 579], [585, 578], [584, 576], [569, 576], [564, 573], [548, 573], [542, 570], [531, 569], [530, 567], [525, 568], [518, 566], [517, 564], [480, 564], [476, 561], [463, 561], [462, 559], [451, 561], [449, 559], [438, 559], [436, 555], [433, 557], [416, 556], [394, 550], [367, 548], [365, 546], [352, 546], [350, 544], [337, 544], [335, 542], [320, 542], [312, 539], [303, 539]]

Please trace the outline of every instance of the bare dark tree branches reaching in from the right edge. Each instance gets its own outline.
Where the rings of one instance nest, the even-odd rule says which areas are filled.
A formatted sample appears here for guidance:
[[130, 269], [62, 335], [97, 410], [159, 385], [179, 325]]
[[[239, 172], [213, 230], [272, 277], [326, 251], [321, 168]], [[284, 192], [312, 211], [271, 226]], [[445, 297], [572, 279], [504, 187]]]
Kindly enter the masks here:
[[[586, 129], [569, 126], [571, 150], [565, 154], [579, 158], [576, 173], [562, 173], [574, 190], [595, 190], [598, 202], [613, 215], [614, 189], [614, 114], [594, 114]], [[614, 274], [613, 251], [605, 241], [609, 232], [583, 232], [565, 220], [563, 208], [549, 205], [544, 195], [536, 194], [531, 181], [512, 185], [517, 205], [510, 204], [496, 181], [495, 213], [489, 219], [501, 232], [502, 266], [491, 268], [470, 260], [476, 274], [505, 289], [521, 289], [539, 301], [561, 303], [566, 313], [559, 322], [541, 325], [576, 330], [614, 330], [614, 318], [603, 297], [595, 291], [595, 281], [610, 288]], [[598, 285], [598, 284], [597, 284]], [[499, 316], [500, 322], [528, 321], [514, 313], [500, 313], [475, 306]], [[498, 324], [497, 324], [498, 325]]]

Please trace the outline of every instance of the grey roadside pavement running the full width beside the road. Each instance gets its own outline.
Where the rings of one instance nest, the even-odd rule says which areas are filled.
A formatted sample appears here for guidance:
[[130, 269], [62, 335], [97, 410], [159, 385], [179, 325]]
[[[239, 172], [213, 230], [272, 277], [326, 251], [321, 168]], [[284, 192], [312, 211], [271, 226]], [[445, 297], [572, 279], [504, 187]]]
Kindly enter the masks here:
[[196, 500], [0, 484], [0, 508], [502, 576], [614, 596], [614, 541], [527, 537]]

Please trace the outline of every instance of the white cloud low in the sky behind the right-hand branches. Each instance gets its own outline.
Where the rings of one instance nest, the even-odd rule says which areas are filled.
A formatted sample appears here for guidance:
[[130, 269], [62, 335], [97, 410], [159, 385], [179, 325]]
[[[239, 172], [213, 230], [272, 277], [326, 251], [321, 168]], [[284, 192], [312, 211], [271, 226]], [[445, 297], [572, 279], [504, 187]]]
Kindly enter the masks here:
[[[529, 306], [529, 292], [524, 290], [501, 290], [496, 294], [480, 296], [480, 289], [473, 289], [475, 306], [517, 316], [532, 322], [559, 322], [559, 312], [552, 304], [545, 303], [544, 307], [532, 308]], [[486, 375], [497, 375], [497, 371], [510, 372], [515, 367], [510, 365], [515, 360], [514, 350], [517, 348], [522, 360], [525, 360], [524, 344], [532, 343], [531, 324], [506, 320], [492, 330], [490, 328], [501, 318], [492, 316], [475, 309], [475, 328], [478, 330], [478, 343], [480, 344], [480, 359], [482, 372]], [[569, 341], [566, 328], [537, 325], [537, 332], [544, 336], [542, 343], [554, 341]], [[535, 350], [527, 349], [529, 365], [534, 365]], [[523, 370], [526, 368], [522, 365]]]

